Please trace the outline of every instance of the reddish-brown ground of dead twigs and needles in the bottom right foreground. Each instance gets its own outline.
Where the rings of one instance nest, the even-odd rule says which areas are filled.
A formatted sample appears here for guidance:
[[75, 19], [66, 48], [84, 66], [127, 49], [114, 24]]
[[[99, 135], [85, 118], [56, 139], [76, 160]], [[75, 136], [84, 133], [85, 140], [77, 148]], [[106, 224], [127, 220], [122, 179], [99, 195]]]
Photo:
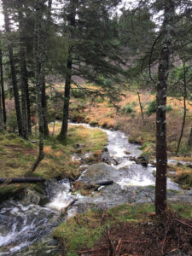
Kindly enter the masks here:
[[192, 255], [192, 219], [166, 216], [151, 222], [124, 223], [106, 230], [81, 256]]

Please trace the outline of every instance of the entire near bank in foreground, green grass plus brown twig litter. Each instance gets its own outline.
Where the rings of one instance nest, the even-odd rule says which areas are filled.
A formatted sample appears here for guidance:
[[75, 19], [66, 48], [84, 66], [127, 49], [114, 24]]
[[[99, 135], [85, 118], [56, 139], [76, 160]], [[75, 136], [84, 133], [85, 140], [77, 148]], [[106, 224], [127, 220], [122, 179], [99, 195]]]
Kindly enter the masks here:
[[153, 204], [90, 210], [68, 218], [53, 235], [67, 256], [191, 255], [192, 206], [169, 207], [161, 218]]

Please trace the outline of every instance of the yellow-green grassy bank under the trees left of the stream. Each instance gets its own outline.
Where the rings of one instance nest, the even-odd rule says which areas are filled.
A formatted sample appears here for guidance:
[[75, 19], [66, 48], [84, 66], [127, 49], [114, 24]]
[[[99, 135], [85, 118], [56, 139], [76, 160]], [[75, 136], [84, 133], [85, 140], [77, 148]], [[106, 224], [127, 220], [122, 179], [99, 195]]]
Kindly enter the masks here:
[[[50, 125], [51, 126], [51, 125]], [[51, 129], [51, 127], [49, 127]], [[57, 140], [56, 136], [61, 125], [55, 125], [55, 137], [44, 140], [44, 160], [40, 162], [35, 172], [30, 173], [34, 160], [38, 156], [38, 143], [26, 142], [17, 137], [14, 133], [0, 133], [0, 166], [1, 177], [72, 177], [76, 179], [79, 171], [79, 161], [72, 160], [72, 155], [77, 153], [75, 144], [84, 145], [80, 153], [92, 152], [93, 156], [98, 156], [98, 151], [102, 152], [108, 143], [105, 132], [94, 129], [90, 130], [84, 126], [69, 126], [68, 137], [65, 143]], [[96, 158], [93, 157], [93, 160]], [[15, 191], [22, 189], [23, 185], [1, 185], [0, 195], [15, 194]]]

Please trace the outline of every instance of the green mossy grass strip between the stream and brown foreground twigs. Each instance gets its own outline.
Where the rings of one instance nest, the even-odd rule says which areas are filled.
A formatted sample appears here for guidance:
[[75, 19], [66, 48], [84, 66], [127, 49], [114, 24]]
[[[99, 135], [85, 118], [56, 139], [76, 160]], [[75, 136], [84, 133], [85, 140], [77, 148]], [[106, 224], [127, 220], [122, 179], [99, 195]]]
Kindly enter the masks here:
[[[169, 206], [180, 218], [192, 218], [192, 205], [174, 203]], [[122, 223], [148, 223], [155, 218], [154, 204], [124, 204], [106, 212], [90, 210], [68, 218], [53, 231], [53, 236], [67, 249], [67, 256], [79, 255], [78, 250], [94, 247], [106, 231], [106, 227]]]

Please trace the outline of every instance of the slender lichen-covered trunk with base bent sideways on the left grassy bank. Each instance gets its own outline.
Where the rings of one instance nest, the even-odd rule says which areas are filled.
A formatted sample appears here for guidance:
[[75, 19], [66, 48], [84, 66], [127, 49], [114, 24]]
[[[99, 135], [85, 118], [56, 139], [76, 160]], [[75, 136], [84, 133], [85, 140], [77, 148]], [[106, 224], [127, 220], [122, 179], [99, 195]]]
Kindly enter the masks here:
[[38, 109], [38, 130], [39, 130], [39, 147], [38, 147], [38, 159], [32, 166], [32, 172], [38, 167], [41, 160], [44, 159], [44, 118], [42, 108], [42, 88], [44, 85], [44, 67], [45, 67], [45, 55], [44, 55], [44, 38], [42, 38], [42, 16], [44, 2], [37, 0], [36, 2], [36, 17], [35, 17], [35, 39], [34, 39], [34, 57], [35, 57], [35, 80], [36, 80], [36, 102]]

